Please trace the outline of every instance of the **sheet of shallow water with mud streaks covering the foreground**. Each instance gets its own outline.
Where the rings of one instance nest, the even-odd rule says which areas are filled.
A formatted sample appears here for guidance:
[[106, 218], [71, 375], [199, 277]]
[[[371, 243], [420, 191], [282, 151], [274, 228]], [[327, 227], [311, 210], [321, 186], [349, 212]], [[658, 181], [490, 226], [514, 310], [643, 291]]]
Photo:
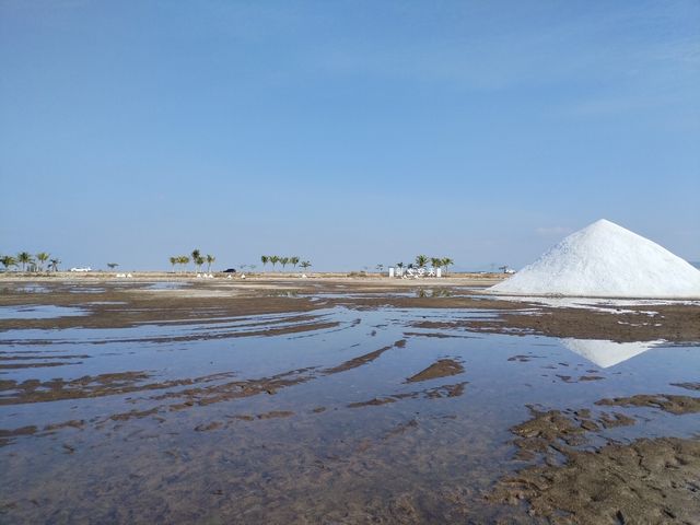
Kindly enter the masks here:
[[[522, 466], [510, 429], [528, 405], [600, 411], [698, 381], [698, 346], [412, 326], [485, 316], [334, 307], [0, 332], [0, 521], [534, 523], [483, 499]], [[464, 370], [408, 381], [440, 360]], [[597, 435], [700, 428], [699, 415], [626, 413], [638, 423]]]

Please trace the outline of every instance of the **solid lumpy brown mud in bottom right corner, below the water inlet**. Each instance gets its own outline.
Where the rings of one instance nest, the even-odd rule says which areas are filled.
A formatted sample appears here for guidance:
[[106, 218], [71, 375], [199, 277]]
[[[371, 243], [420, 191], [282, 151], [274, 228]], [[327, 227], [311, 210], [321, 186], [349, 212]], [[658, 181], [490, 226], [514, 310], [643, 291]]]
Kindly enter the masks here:
[[697, 523], [700, 441], [640, 439], [563, 454], [564, 465], [521, 470], [489, 499], [525, 500], [532, 514], [553, 524]]

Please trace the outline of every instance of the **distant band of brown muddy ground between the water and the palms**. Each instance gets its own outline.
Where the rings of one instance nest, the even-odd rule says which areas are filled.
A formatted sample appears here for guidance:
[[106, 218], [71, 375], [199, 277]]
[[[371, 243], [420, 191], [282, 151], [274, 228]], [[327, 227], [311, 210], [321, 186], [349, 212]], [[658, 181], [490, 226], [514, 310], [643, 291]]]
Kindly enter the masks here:
[[[323, 308], [460, 308], [493, 311], [493, 318], [466, 322], [420, 322], [418, 328], [465, 329], [492, 334], [538, 334], [560, 338], [612, 341], [700, 340], [700, 302], [692, 304], [604, 305], [595, 310], [551, 307], [537, 299], [513, 301], [482, 293], [482, 278], [440, 281], [405, 280], [271, 280], [182, 281], [180, 289], [151, 290], [148, 283], [118, 280], [0, 280], [0, 306], [77, 306], [88, 315], [44, 319], [2, 319], [12, 328], [125, 328], [145, 323], [213, 323], [226, 316], [305, 314]], [[26, 289], [32, 282], [40, 291]], [[594, 300], [590, 300], [593, 304]], [[311, 319], [312, 317], [310, 317]], [[313, 327], [313, 324], [310, 325]], [[299, 328], [290, 328], [299, 329]], [[302, 328], [306, 329], [306, 328]], [[265, 335], [266, 329], [255, 335]], [[277, 332], [269, 331], [270, 335]], [[224, 336], [225, 337], [225, 336]], [[235, 337], [231, 335], [230, 337]]]

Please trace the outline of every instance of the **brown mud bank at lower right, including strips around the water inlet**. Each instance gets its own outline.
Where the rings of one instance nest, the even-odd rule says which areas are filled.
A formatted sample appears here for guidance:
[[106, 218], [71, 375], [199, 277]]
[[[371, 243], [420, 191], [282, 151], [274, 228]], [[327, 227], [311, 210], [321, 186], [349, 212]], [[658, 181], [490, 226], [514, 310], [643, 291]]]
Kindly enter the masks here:
[[[700, 398], [637, 395], [600, 407], [650, 407], [676, 416], [700, 411]], [[700, 516], [700, 439], [608, 441], [581, 450], [587, 434], [632, 425], [634, 418], [590, 409], [540, 411], [511, 431], [516, 459], [530, 465], [501, 480], [488, 500], [521, 505], [553, 524], [695, 524]], [[544, 464], [541, 462], [544, 459]]]

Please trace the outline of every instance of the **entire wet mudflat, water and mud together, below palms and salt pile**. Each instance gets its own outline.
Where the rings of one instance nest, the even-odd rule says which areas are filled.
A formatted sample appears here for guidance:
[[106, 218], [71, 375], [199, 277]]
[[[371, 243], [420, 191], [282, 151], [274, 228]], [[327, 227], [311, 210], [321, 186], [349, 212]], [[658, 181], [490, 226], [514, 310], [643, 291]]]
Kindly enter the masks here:
[[0, 319], [0, 523], [700, 515], [696, 305], [40, 287], [0, 296], [45, 314]]

